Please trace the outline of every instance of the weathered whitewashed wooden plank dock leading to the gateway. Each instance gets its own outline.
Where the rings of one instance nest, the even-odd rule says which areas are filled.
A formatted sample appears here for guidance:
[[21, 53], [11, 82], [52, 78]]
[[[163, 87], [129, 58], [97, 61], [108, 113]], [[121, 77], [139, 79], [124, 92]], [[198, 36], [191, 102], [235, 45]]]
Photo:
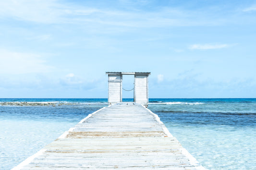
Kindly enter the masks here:
[[122, 102], [89, 114], [13, 170], [205, 170], [146, 107]]

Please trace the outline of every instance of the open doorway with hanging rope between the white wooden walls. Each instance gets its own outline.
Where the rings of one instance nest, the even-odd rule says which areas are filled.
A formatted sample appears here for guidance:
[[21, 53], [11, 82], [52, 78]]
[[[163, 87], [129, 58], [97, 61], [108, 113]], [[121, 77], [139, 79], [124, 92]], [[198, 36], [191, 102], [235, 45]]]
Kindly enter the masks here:
[[122, 75], [122, 102], [134, 102], [134, 75]]

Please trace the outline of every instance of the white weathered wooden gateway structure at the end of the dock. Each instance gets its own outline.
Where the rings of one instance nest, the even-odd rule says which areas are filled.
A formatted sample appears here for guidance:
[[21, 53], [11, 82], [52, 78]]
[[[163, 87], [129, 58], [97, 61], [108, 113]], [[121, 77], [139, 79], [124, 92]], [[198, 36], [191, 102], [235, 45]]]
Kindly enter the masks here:
[[109, 76], [108, 102], [122, 102], [122, 75], [134, 75], [134, 102], [147, 107], [150, 72], [106, 72]]

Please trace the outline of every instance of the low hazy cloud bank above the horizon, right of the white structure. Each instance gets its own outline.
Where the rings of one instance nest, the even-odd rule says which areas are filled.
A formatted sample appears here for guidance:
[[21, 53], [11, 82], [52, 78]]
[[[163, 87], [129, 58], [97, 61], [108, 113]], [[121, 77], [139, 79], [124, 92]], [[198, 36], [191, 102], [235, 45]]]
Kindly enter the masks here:
[[[151, 81], [151, 96], [173, 98], [244, 98], [253, 97], [256, 89], [255, 79], [213, 78], [199, 79], [200, 73], [184, 74], [174, 79], [164, 79], [162, 83]], [[156, 93], [154, 91], [157, 91]], [[154, 94], [155, 93], [155, 94]], [[152, 97], [152, 98], [154, 98]]]

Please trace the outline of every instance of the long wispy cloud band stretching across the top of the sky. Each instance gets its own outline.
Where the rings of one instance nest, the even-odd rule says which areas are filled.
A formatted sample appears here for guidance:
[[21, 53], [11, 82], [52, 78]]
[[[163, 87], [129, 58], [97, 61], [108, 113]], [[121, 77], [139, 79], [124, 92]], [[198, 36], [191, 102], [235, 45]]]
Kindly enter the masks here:
[[[143, 9], [122, 10], [115, 7], [111, 9], [74, 5], [74, 3], [60, 3], [57, 0], [5, 0], [0, 2], [0, 6], [0, 17], [47, 24], [75, 23], [88, 26], [88, 23], [94, 23], [107, 26], [148, 28], [225, 23], [223, 18], [213, 18], [210, 12], [189, 11], [171, 7], [159, 8], [154, 11]], [[207, 13], [209, 14], [207, 15]]]

